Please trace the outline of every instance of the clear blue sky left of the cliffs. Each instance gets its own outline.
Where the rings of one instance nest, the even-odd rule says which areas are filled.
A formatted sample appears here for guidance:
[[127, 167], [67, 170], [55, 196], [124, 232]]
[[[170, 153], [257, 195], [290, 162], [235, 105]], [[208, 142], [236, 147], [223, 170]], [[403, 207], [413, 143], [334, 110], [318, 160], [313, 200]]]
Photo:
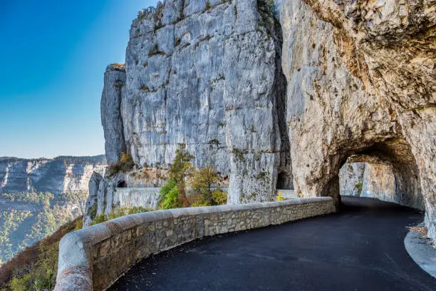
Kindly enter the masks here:
[[155, 3], [0, 0], [0, 156], [103, 154], [103, 73]]

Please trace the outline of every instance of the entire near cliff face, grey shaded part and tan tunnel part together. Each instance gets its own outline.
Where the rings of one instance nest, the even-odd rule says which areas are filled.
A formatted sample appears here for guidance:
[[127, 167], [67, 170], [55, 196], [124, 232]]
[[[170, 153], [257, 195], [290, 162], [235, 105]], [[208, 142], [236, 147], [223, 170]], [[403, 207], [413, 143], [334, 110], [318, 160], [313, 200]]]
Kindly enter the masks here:
[[395, 197], [425, 208], [436, 238], [434, 15], [415, 0], [141, 11], [125, 67], [105, 75], [108, 161], [125, 150], [139, 168], [165, 168], [186, 143], [196, 165], [229, 175], [229, 203], [271, 200], [278, 186], [337, 205], [354, 156], [392, 169]]

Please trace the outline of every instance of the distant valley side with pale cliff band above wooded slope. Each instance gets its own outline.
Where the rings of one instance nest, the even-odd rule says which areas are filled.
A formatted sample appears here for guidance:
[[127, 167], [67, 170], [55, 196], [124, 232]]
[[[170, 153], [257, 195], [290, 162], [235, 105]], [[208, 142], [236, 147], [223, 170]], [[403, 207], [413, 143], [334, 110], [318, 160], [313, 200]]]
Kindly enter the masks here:
[[105, 168], [104, 155], [0, 158], [0, 265], [83, 215], [90, 175]]

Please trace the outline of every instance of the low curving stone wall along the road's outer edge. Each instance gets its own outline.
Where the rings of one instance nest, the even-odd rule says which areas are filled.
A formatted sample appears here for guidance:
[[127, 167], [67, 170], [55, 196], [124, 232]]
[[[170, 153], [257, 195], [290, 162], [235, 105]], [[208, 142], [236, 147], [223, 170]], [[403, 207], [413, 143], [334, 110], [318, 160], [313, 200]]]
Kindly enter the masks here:
[[55, 290], [105, 290], [138, 260], [185, 242], [334, 211], [332, 198], [306, 198], [127, 215], [61, 240]]

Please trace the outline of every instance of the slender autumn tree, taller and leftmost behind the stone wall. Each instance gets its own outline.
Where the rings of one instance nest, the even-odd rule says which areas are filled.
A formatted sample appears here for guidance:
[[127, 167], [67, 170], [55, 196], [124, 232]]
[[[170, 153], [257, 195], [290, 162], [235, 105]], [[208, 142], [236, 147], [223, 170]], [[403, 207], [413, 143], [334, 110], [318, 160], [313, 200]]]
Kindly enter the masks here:
[[186, 178], [192, 170], [192, 163], [190, 160], [193, 158], [194, 156], [186, 149], [185, 143], [179, 143], [175, 159], [169, 170], [170, 180], [177, 183], [182, 206], [188, 205], [188, 199], [186, 196]]

